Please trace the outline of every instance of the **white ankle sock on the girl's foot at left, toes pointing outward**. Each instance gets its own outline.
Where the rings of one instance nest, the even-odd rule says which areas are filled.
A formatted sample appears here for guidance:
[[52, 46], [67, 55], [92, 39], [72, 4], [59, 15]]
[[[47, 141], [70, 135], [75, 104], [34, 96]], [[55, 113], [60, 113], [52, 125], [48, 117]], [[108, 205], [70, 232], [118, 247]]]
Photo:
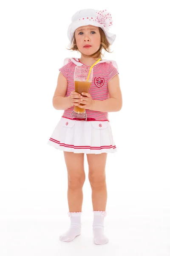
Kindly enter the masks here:
[[81, 233], [81, 213], [82, 212], [68, 212], [71, 219], [71, 225], [67, 232], [59, 236], [59, 239], [64, 242], [71, 242], [76, 236]]

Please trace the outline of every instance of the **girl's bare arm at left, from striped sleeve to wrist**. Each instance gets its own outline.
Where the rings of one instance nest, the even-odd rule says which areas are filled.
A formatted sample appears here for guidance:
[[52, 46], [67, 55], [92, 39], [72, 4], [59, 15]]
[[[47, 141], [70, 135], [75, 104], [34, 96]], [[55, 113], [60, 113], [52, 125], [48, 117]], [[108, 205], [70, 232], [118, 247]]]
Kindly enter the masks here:
[[57, 110], [65, 110], [72, 107], [71, 96], [65, 97], [67, 86], [67, 79], [59, 72], [57, 87], [53, 96], [53, 107]]

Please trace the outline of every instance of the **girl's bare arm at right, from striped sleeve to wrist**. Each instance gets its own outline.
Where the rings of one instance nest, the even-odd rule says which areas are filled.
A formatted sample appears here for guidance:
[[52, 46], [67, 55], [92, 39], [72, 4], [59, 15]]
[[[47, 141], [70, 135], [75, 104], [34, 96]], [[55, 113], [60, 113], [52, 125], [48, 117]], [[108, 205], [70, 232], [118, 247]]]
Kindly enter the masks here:
[[121, 110], [122, 93], [119, 85], [119, 74], [116, 74], [108, 81], [108, 91], [110, 99], [94, 100], [94, 104], [91, 107], [92, 111], [116, 112]]

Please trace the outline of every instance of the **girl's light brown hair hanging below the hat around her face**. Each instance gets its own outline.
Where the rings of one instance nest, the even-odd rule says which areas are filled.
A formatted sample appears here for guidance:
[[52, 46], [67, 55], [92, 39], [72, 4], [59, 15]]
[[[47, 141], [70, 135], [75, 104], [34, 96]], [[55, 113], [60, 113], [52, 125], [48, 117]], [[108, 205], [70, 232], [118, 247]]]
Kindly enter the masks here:
[[[100, 27], [99, 27], [99, 32], [100, 32], [100, 38], [101, 38], [100, 47], [97, 50], [97, 52], [94, 52], [92, 55], [89, 55], [89, 57], [94, 57], [95, 56], [95, 58], [101, 58], [102, 59], [102, 57], [104, 56], [104, 54], [102, 54], [102, 49], [105, 49], [105, 51], [110, 52], [111, 44], [109, 43], [108, 39], [106, 38], [105, 32]], [[77, 48], [75, 32], [74, 32], [73, 44], [72, 44], [71, 48], [67, 48], [67, 49], [72, 50], [72, 51], [80, 52], [79, 49]]]

